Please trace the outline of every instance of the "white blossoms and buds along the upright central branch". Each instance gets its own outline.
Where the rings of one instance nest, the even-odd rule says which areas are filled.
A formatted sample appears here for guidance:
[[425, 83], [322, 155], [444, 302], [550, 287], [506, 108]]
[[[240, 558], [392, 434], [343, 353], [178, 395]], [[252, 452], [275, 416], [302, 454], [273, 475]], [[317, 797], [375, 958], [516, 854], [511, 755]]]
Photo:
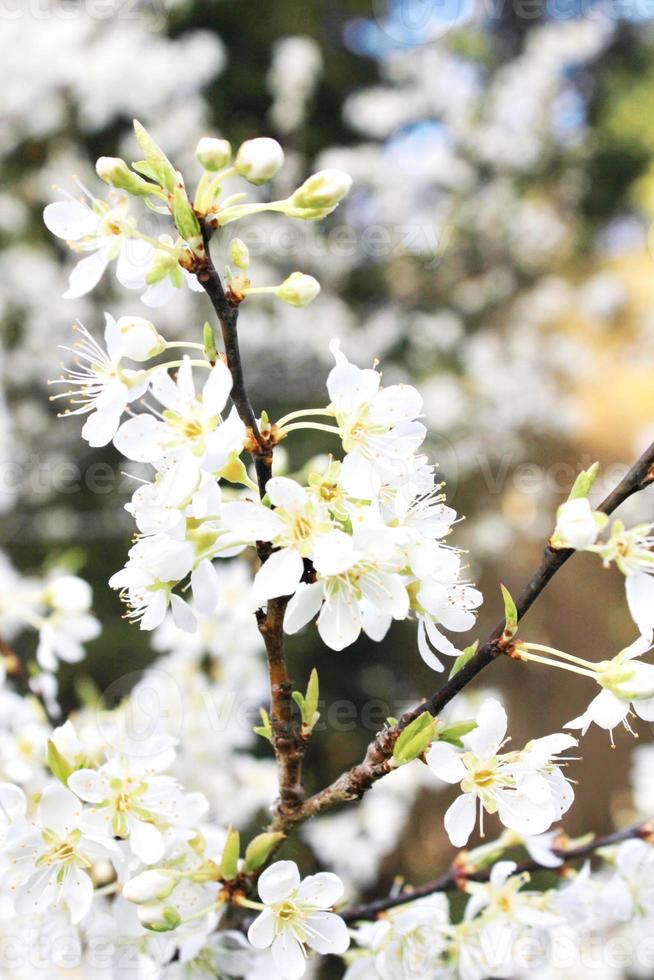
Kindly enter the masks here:
[[[73, 271], [69, 296], [78, 295], [74, 283], [80, 277], [83, 291], [95, 285], [96, 273], [115, 256], [118, 278], [133, 283], [132, 273], [125, 272], [133, 241], [149, 250], [144, 268], [153, 284], [163, 282], [153, 269], [165, 260], [174, 276], [187, 272], [198, 285], [187, 270], [196, 268], [205, 254], [197, 214], [221, 227], [266, 208], [316, 220], [329, 214], [349, 189], [347, 175], [323, 171], [285, 201], [221, 202], [226, 173], [261, 184], [282, 165], [283, 154], [274, 140], [250, 140], [230, 166], [229, 144], [205, 138], [197, 149], [204, 174], [191, 208], [181, 175], [139, 124], [136, 135], [146, 161], [130, 170], [124, 161], [103, 158], [98, 173], [119, 192], [166, 201], [187, 240], [178, 239], [175, 245], [162, 239], [144, 242], [134, 219], [124, 216], [122, 199], [119, 213], [97, 199], [92, 205], [49, 205], [45, 221], [50, 230], [73, 247], [92, 252]], [[163, 258], [153, 260], [159, 252]], [[232, 241], [230, 256], [239, 270], [247, 269], [247, 249], [238, 240]], [[83, 270], [91, 260], [95, 264], [87, 278]], [[234, 302], [267, 291], [229, 270], [226, 288]], [[294, 305], [315, 295], [300, 273], [272, 291]], [[317, 618], [323, 641], [341, 650], [362, 630], [381, 640], [393, 620], [414, 615], [419, 649], [430, 666], [442, 669], [434, 649], [458, 654], [442, 629], [470, 629], [481, 595], [466, 582], [461, 555], [444, 543], [456, 513], [445, 505], [433, 467], [419, 452], [426, 429], [415, 388], [382, 386], [379, 371], [352, 364], [332, 341], [336, 363], [327, 379], [328, 404], [291, 412], [274, 425], [262, 417], [259, 427], [269, 432], [273, 444], [298, 430], [326, 431], [340, 444], [342, 459], [335, 454], [322, 469], [309, 467], [305, 481], [273, 477], [263, 488], [264, 500], [251, 501], [235, 489], [256, 488], [241, 458], [251, 433], [236, 406], [227, 407], [232, 374], [215, 353], [210, 356], [206, 338], [203, 343], [167, 342], [142, 317], [115, 320], [110, 314], [104, 346], [84, 327], [79, 330], [76, 367], [61, 379], [68, 390], [55, 397], [69, 397], [73, 413], [88, 416], [82, 434], [91, 445], [113, 440], [128, 459], [155, 469], [154, 478], [137, 488], [128, 505], [138, 539], [125, 568], [110, 580], [129, 604], [131, 619], [153, 629], [170, 607], [177, 625], [192, 631], [195, 612], [180, 593], [190, 585], [195, 609], [212, 613], [219, 594], [216, 559], [266, 542], [272, 553], [255, 576], [253, 607], [292, 596], [287, 632]], [[185, 353], [181, 360], [159, 360], [172, 347], [199, 349], [200, 356]], [[151, 360], [156, 363], [145, 367]], [[201, 386], [194, 371], [206, 372]], [[130, 417], [123, 421], [125, 412]], [[225, 482], [231, 486], [225, 488]]]

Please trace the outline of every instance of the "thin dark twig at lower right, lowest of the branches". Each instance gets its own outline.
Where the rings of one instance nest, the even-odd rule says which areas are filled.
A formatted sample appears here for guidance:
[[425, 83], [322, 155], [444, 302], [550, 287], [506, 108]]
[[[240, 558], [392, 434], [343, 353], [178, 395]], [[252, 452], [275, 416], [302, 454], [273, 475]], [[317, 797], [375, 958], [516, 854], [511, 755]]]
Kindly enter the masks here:
[[[594, 840], [590, 841], [588, 844], [582, 844], [579, 847], [553, 847], [552, 854], [560, 858], [564, 865], [569, 864], [578, 858], [589, 857], [595, 851], [600, 850], [603, 847], [610, 847], [613, 844], [620, 844], [625, 840], [646, 840], [652, 842], [654, 835], [654, 826], [651, 823], [640, 823], [636, 824], [634, 827], [629, 827], [626, 830], [618, 830], [613, 834], [606, 834], [604, 837], [596, 837]], [[546, 865], [539, 864], [538, 861], [525, 861], [516, 867], [514, 874], [522, 874], [525, 871], [557, 871], [560, 869], [560, 865], [557, 868], [548, 868]], [[468, 881], [486, 882], [490, 878], [492, 867], [484, 868], [482, 871], [471, 871], [466, 872], [463, 863], [457, 863], [454, 861], [450, 870], [441, 875], [440, 878], [436, 878], [434, 881], [429, 881], [425, 885], [419, 885], [417, 888], [407, 889], [401, 892], [399, 895], [392, 895], [388, 898], [380, 898], [374, 902], [367, 902], [363, 905], [355, 905], [353, 908], [345, 909], [343, 912], [339, 912], [341, 918], [345, 919], [346, 922], [359, 922], [367, 919], [375, 919], [378, 915], [383, 912], [387, 912], [389, 909], [397, 908], [400, 905], [406, 905], [408, 902], [416, 901], [419, 898], [426, 898], [428, 895], [435, 895], [437, 892], [448, 892], [456, 891], [457, 889], [462, 889], [465, 887], [465, 883]]]

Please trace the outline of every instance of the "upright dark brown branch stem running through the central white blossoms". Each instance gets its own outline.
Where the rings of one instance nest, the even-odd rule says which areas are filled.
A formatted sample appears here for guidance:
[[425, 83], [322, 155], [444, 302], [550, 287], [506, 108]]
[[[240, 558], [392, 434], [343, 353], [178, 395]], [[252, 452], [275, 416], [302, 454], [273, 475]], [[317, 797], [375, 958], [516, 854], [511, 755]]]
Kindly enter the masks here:
[[[239, 418], [248, 430], [249, 450], [254, 461], [259, 494], [266, 492], [266, 484], [272, 476], [274, 439], [268, 439], [259, 429], [257, 418], [250, 402], [243, 375], [243, 365], [238, 343], [238, 301], [232, 300], [225, 292], [220, 276], [213, 264], [209, 249], [212, 230], [204, 221], [200, 222], [206, 257], [196, 270], [198, 280], [203, 286], [216, 312], [225, 348], [227, 366], [232, 375], [232, 401]], [[257, 552], [261, 564], [271, 554], [270, 546], [259, 542]], [[266, 645], [268, 672], [270, 676], [270, 726], [275, 756], [279, 768], [279, 800], [273, 819], [273, 828], [284, 832], [289, 824], [288, 814], [294, 814], [302, 805], [302, 761], [306, 751], [295, 715], [292, 698], [293, 685], [288, 675], [284, 656], [284, 612], [289, 597], [269, 599], [266, 611], [259, 611], [257, 624]], [[292, 821], [290, 821], [292, 822]]]

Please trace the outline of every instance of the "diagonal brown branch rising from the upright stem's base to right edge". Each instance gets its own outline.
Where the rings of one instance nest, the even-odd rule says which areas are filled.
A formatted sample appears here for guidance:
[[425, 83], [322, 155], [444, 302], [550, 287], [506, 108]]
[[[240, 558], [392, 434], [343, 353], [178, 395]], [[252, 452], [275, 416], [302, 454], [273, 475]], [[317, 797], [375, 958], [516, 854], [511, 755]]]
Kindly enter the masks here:
[[[644, 490], [654, 482], [654, 443], [643, 453], [637, 463], [597, 508], [611, 514], [633, 494]], [[555, 574], [574, 554], [573, 549], [555, 550], [549, 545], [545, 548], [540, 565], [516, 600], [518, 618], [521, 620], [536, 599], [554, 578]], [[410, 722], [428, 711], [437, 715], [459, 694], [478, 674], [505, 652], [502, 641], [504, 622], [498, 623], [486, 641], [454, 677], [451, 677], [440, 690], [430, 698], [406, 711], [397, 725], [386, 728], [369, 744], [363, 762], [343, 773], [330, 786], [314, 794], [295, 814], [296, 820], [307, 820], [321, 811], [360, 798], [378, 779], [391, 770], [390, 760], [393, 746], [400, 732]]]

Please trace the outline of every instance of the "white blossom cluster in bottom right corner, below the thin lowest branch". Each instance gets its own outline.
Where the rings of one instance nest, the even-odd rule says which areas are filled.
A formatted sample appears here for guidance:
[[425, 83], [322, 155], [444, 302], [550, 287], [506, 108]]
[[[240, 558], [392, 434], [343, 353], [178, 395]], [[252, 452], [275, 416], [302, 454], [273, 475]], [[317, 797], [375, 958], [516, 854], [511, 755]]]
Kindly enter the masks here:
[[[515, 842], [514, 842], [515, 843]], [[547, 861], [547, 842], [527, 842]], [[469, 855], [475, 867], [489, 853], [502, 855], [506, 842]], [[486, 854], [483, 851], [486, 850]], [[557, 859], [550, 852], [550, 866]], [[570, 872], [558, 888], [530, 890], [530, 876], [511, 860], [496, 860], [486, 883], [467, 881], [463, 917], [445, 895], [435, 894], [387, 912], [354, 930], [357, 948], [347, 954], [347, 980], [445, 980], [607, 976], [602, 947], [620, 955], [635, 975], [651, 970], [643, 937], [651, 929], [654, 852], [631, 840], [602, 851], [603, 867]], [[594, 946], [593, 946], [594, 944]], [[609, 953], [609, 956], [613, 956]], [[610, 974], [613, 975], [613, 974]]]

